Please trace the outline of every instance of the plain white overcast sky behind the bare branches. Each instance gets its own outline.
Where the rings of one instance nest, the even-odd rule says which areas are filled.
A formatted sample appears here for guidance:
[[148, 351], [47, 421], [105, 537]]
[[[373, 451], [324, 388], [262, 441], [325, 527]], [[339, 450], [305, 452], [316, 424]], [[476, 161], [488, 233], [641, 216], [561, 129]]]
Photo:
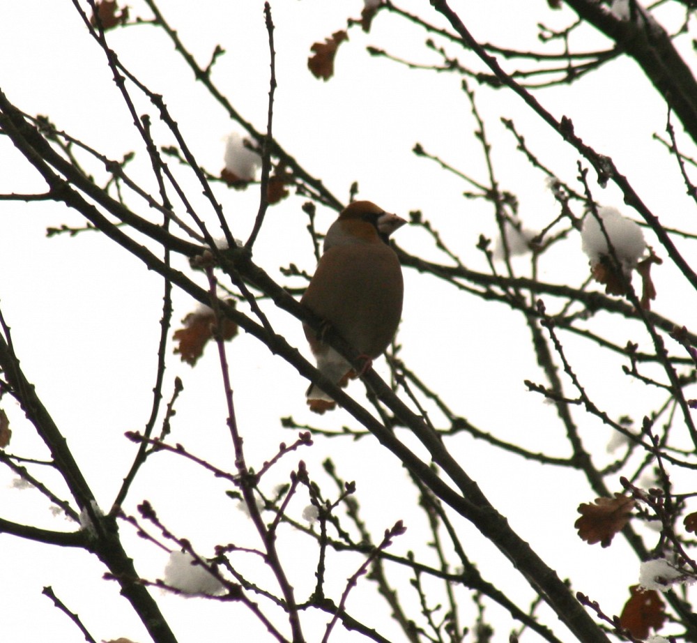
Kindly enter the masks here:
[[[139, 2], [130, 4], [132, 16], [148, 15]], [[263, 3], [202, 0], [195, 4], [194, 10], [192, 3], [162, 0], [160, 7], [199, 63], [208, 61], [215, 44], [224, 47], [227, 54], [216, 63], [214, 80], [238, 112], [263, 129], [268, 92]], [[475, 37], [503, 46], [540, 49], [537, 22], [553, 27], [569, 22], [569, 12], [551, 12], [544, 0], [480, 0], [453, 5], [461, 9]], [[451, 162], [461, 172], [486, 181], [482, 153], [472, 135], [476, 124], [459, 89], [460, 78], [408, 71], [384, 59], [370, 59], [365, 45], [376, 45], [414, 61], [437, 60], [423, 49], [423, 33], [385, 14], [378, 15], [368, 35], [351, 30], [349, 42], [339, 51], [335, 77], [321, 82], [307, 70], [309, 47], [344, 28], [346, 17], [358, 17], [362, 3], [284, 0], [271, 6], [278, 82], [274, 131], [279, 143], [344, 202], [348, 201], [351, 183], [358, 181], [360, 197], [374, 200], [389, 211], [404, 215], [422, 209], [447, 243], [461, 253], [468, 267], [487, 271], [475, 244], [479, 234], [495, 234], [491, 209], [463, 199], [461, 192], [468, 189], [466, 184], [410, 153], [413, 145], [420, 142], [424, 149]], [[441, 22], [429, 14], [426, 0], [405, 1], [401, 6]], [[677, 24], [677, 20], [675, 17], [671, 24]], [[586, 39], [579, 49], [605, 46], [603, 38], [584, 33]], [[199, 163], [210, 172], [220, 172], [224, 137], [236, 126], [208, 99], [204, 88], [194, 83], [164, 33], [152, 27], [129, 27], [110, 32], [109, 43], [125, 66], [164, 96]], [[479, 68], [472, 56], [462, 52], [457, 55], [467, 66]], [[685, 55], [690, 60], [694, 58], [689, 50]], [[121, 158], [137, 149], [142, 158], [129, 169], [143, 177], [146, 187], [153, 188], [150, 176], [137, 172], [139, 167], [146, 170], [148, 162], [137, 133], [130, 126], [130, 116], [118, 98], [104, 56], [89, 38], [71, 3], [4, 3], [0, 62], [0, 88], [11, 101], [30, 114], [49, 114], [59, 129], [111, 158]], [[516, 68], [510, 61], [502, 59], [501, 63], [507, 70]], [[646, 84], [631, 63], [615, 61], [579, 84], [544, 91], [538, 97], [555, 116], [565, 114], [572, 118], [576, 133], [585, 142], [612, 156], [620, 172], [629, 176], [645, 203], [666, 225], [689, 227], [694, 203], [684, 197], [675, 161], [651, 139], [652, 133], [663, 133], [666, 109]], [[544, 187], [542, 176], [533, 172], [516, 151], [514, 139], [500, 124], [500, 116], [513, 118], [533, 150], [565, 181], [572, 182], [576, 176], [576, 155], [536, 116], [523, 109], [521, 101], [511, 93], [478, 89], [471, 81], [470, 86], [477, 89], [477, 106], [486, 119], [498, 181], [503, 189], [519, 196], [520, 215], [526, 227], [539, 229], [556, 217], [556, 204]], [[139, 100], [138, 108], [141, 113], [148, 111], [153, 115], [159, 142], [170, 144], [171, 136], [156, 123], [154, 109], [144, 100]], [[685, 151], [694, 153], [687, 144]], [[200, 189], [185, 178], [174, 161], [170, 165], [203, 211]], [[589, 176], [592, 178], [592, 174]], [[102, 179], [98, 176], [98, 183]], [[598, 200], [626, 212], [618, 190], [610, 186], [602, 191], [595, 183], [592, 189]], [[43, 190], [40, 179], [9, 142], [0, 138], [0, 192], [33, 190]], [[243, 193], [222, 186], [215, 186], [215, 190], [233, 234], [246, 239], [256, 213], [256, 190]], [[277, 273], [277, 266], [295, 262], [307, 271], [314, 267], [305, 234], [306, 218], [300, 211], [303, 200], [291, 197], [273, 206], [255, 248], [256, 262], [284, 283], [287, 280]], [[138, 204], [138, 208], [140, 213], [146, 213], [143, 204]], [[319, 229], [326, 229], [333, 217], [330, 211], [319, 211]], [[206, 220], [211, 227], [215, 225], [212, 213], [206, 213]], [[162, 281], [98, 234], [46, 239], [47, 227], [63, 223], [81, 225], [81, 219], [54, 203], [27, 206], [2, 202], [0, 306], [12, 328], [24, 372], [36, 384], [38, 394], [66, 435], [100, 506], [108, 510], [135, 453], [123, 433], [141, 430], [150, 410]], [[431, 244], [418, 229], [401, 229], [395, 238], [409, 252], [444, 260], [431, 250]], [[648, 242], [655, 243], [650, 238]], [[579, 239], [572, 239], [563, 249], [550, 253], [542, 264], [540, 278], [580, 283], [588, 271], [580, 246]], [[687, 247], [683, 243], [679, 246]], [[185, 268], [184, 262], [176, 261], [178, 267]], [[516, 266], [523, 269], [524, 265], [524, 259], [516, 260]], [[670, 266], [654, 271], [654, 277], [659, 292], [656, 310], [689, 326], [697, 311], [694, 297], [682, 296], [682, 280]], [[500, 306], [484, 305], [473, 297], [453, 304], [433, 278], [420, 278], [410, 272], [406, 283], [399, 339], [408, 365], [427, 384], [441, 391], [457, 412], [480, 428], [533, 450], [567, 455], [568, 447], [559, 434], [555, 412], [539, 396], [527, 393], [523, 385], [523, 379], [542, 381], [542, 375], [527, 348], [528, 331], [516, 323], [516, 315]], [[178, 322], [193, 304], [178, 292], [174, 303], [174, 321]], [[277, 329], [309, 355], [298, 322], [275, 312], [268, 303], [264, 310]], [[620, 343], [631, 339], [648, 345], [638, 326], [627, 331], [626, 326], [618, 328], [614, 320], [605, 331]], [[591, 397], [611, 416], [629, 413], [641, 421], [641, 416], [661, 399], [652, 391], [617, 377], [619, 360], [597, 361], [597, 356], [588, 354], [587, 345], [571, 340], [567, 349]], [[270, 356], [256, 340], [244, 335], [236, 338], [229, 345], [228, 355], [247, 461], [259, 468], [263, 460], [273, 455], [279, 441], [293, 439], [291, 432], [280, 427], [280, 416], [291, 415], [300, 423], [314, 425], [318, 420], [305, 410], [306, 381], [281, 359]], [[383, 375], [387, 373], [383, 361], [376, 362], [376, 368]], [[210, 348], [193, 370], [173, 359], [168, 365], [164, 395], [169, 397], [175, 375], [183, 379], [185, 391], [174, 418], [173, 440], [181, 441], [190, 451], [220, 467], [232, 469], [219, 371]], [[350, 391], [362, 399], [359, 384], [353, 384]], [[46, 457], [45, 451], [38, 448], [31, 427], [22, 423], [20, 409], [9, 398], [3, 400], [3, 408], [14, 429], [10, 451]], [[587, 444], [604, 449], [610, 437], [608, 430], [591, 418], [577, 417], [583, 423]], [[354, 426], [343, 411], [322, 421], [328, 428], [344, 424]], [[413, 443], [409, 436], [401, 437]], [[542, 552], [560, 577], [572, 577], [574, 589], [600, 600], [609, 612], [621, 610], [626, 587], [636, 582], [638, 563], [621, 542], [601, 550], [576, 538], [576, 506], [593, 499], [580, 476], [531, 464], [521, 466], [512, 456], [493, 452], [464, 436], [449, 444], [493, 504], [510, 517], [513, 527]], [[418, 445], [413, 444], [413, 448], [422, 453]], [[599, 453], [602, 459], [602, 451]], [[326, 484], [326, 493], [335, 496], [319, 464], [325, 457], [332, 457], [340, 475], [357, 481], [363, 517], [375, 538], [395, 520], [404, 519], [408, 531], [397, 539], [395, 552], [417, 548], [418, 556], [429, 558], [431, 554], [424, 551], [422, 544], [423, 519], [408, 505], [412, 492], [404, 470], [392, 455], [376, 448], [374, 439], [367, 437], [355, 443], [318, 439], [312, 449], [286, 457], [274, 469], [265, 483], [267, 492], [284, 481], [300, 457], [307, 461], [311, 476]], [[40, 473], [47, 483], [52, 481], [43, 471]], [[0, 469], [0, 515], [52, 529], [72, 529], [63, 524], [62, 518], [52, 517], [47, 501], [38, 492], [10, 489], [12, 480], [10, 472]], [[150, 500], [170, 529], [190, 538], [202, 554], [212, 554], [213, 545], [243, 540], [250, 530], [243, 513], [225, 499], [223, 492], [227, 488], [229, 485], [210, 480], [192, 464], [171, 455], [159, 455], [141, 471], [126, 510], [135, 513], [139, 501]], [[616, 490], [620, 490], [619, 485]], [[304, 502], [303, 497], [293, 501], [298, 516]], [[525, 587], [505, 559], [483, 542], [475, 530], [462, 521], [457, 524], [484, 577], [498, 582], [507, 593], [514, 594]], [[161, 577], [166, 555], [141, 543], [127, 526], [122, 527], [122, 532], [139, 573], [151, 579]], [[100, 580], [104, 569], [95, 559], [82, 552], [55, 550], [8, 536], [0, 536], [0, 545], [5, 553], [0, 574], [1, 640], [80, 640], [66, 616], [41, 596], [45, 585], [52, 585], [97, 640], [120, 636], [141, 643], [148, 640], [128, 605], [118, 597], [116, 584]], [[302, 600], [314, 584], [314, 550], [308, 554], [302, 547], [302, 538], [289, 533], [282, 538], [282, 553], [297, 562], [291, 566], [293, 583]], [[340, 588], [360, 562], [356, 557], [339, 557], [332, 564], [337, 570], [336, 587]], [[371, 621], [372, 591], [361, 591], [365, 592], [365, 587], [355, 591], [348, 609], [390, 637], [395, 629], [389, 622]], [[370, 600], [365, 600], [365, 596], [370, 596]], [[521, 600], [522, 607], [529, 598], [528, 595]], [[260, 626], [239, 606], [172, 596], [161, 597], [160, 603], [181, 643], [202, 640], [202, 628], [208, 643], [267, 640]], [[418, 610], [416, 603], [410, 606]], [[507, 640], [509, 625], [505, 615], [493, 608], [487, 615], [497, 626], [497, 640]], [[471, 614], [469, 618], [464, 619], [464, 624], [473, 622]], [[323, 627], [325, 618], [313, 621], [309, 618], [312, 624], [308, 624], [307, 633], [315, 631], [314, 627]], [[555, 622], [555, 617], [551, 617], [551, 623]], [[237, 638], [240, 631], [245, 632], [243, 638]], [[563, 639], [563, 632], [560, 637]], [[320, 638], [321, 635], [312, 640]], [[340, 626], [332, 635], [336, 643], [353, 640], [358, 639]]]

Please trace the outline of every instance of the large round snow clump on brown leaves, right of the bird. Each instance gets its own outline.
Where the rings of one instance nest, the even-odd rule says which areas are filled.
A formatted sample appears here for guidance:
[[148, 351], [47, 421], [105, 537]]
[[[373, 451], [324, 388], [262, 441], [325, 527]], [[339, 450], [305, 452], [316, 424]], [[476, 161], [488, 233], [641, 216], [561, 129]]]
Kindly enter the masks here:
[[[598, 208], [598, 216], [602, 219], [605, 232], [610, 238], [615, 255], [622, 264], [622, 269], [625, 274], [629, 275], [636, 268], [646, 249], [646, 241], [641, 227], [631, 219], [623, 217], [616, 208]], [[598, 264], [602, 257], [610, 255], [606, 236], [592, 212], [585, 215], [583, 221], [581, 247], [593, 265]]]

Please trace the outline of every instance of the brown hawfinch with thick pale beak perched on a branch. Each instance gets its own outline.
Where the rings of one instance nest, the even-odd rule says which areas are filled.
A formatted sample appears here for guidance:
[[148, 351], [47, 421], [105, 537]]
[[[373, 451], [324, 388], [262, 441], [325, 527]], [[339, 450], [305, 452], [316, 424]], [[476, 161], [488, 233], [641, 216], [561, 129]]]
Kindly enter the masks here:
[[[369, 201], [355, 201], [332, 223], [324, 252], [300, 303], [324, 319], [367, 360], [381, 355], [392, 341], [401, 317], [404, 282], [389, 237], [406, 221]], [[303, 326], [317, 368], [339, 386], [356, 377], [351, 364]], [[307, 404], [323, 413], [336, 402], [315, 384]]]

